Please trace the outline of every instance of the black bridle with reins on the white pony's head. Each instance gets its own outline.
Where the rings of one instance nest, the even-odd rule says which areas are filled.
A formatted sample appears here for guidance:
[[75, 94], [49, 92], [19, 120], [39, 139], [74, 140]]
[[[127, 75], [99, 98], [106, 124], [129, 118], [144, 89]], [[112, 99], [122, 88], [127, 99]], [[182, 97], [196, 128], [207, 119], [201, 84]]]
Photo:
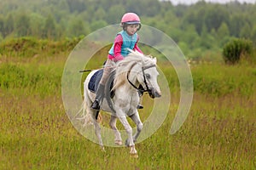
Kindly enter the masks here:
[[[133, 66], [135, 66], [137, 63], [134, 63], [133, 65], [131, 65], [131, 69]], [[148, 82], [146, 80], [146, 77], [145, 77], [145, 70], [149, 69], [149, 68], [152, 68], [152, 67], [155, 67], [156, 65], [148, 65], [148, 66], [143, 66], [142, 67], [142, 71], [143, 71], [143, 78], [144, 78], [144, 83], [145, 83], [145, 86], [146, 86], [146, 89], [144, 88], [141, 88], [141, 86], [139, 86], [138, 88], [129, 80], [129, 75], [130, 75], [130, 71], [128, 72], [127, 74], [127, 80], [128, 82], [131, 84], [131, 86], [133, 88], [136, 88], [137, 91], [140, 93], [140, 94], [143, 94], [144, 92], [148, 92], [148, 94], [151, 96], [152, 95], [152, 90], [148, 88]]]

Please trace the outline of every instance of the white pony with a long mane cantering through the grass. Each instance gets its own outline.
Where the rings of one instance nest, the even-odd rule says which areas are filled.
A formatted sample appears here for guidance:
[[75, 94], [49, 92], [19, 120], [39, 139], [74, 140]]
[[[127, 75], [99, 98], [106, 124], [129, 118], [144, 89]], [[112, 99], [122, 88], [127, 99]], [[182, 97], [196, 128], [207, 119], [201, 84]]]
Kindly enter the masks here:
[[[99, 140], [99, 144], [104, 150], [101, 137], [101, 127], [97, 122], [98, 111], [90, 108], [90, 105], [94, 101], [96, 94], [92, 93], [88, 89], [88, 84], [90, 78], [94, 75], [96, 71], [91, 71], [84, 81], [84, 118], [90, 117], [90, 122], [94, 124], [96, 136]], [[128, 135], [126, 140], [126, 146], [131, 147], [130, 154], [137, 156], [137, 150], [135, 149], [135, 142], [139, 136], [142, 128], [143, 122], [137, 111], [137, 105], [139, 104], [139, 94], [138, 88], [140, 85], [143, 87], [143, 92], [148, 92], [151, 98], [158, 98], [161, 96], [160, 87], [157, 82], [157, 77], [159, 73], [156, 69], [156, 59], [151, 56], [146, 56], [140, 54], [137, 51], [131, 51], [131, 53], [125, 57], [125, 59], [120, 60], [115, 69], [113, 90], [114, 96], [111, 99], [109, 96], [109, 86], [107, 85], [105, 89], [105, 99], [103, 99], [101, 110], [111, 112], [111, 118], [109, 125], [114, 132], [114, 143], [122, 144], [121, 135], [116, 127], [116, 120], [119, 121], [125, 127], [125, 131]], [[111, 77], [111, 76], [110, 76]], [[108, 80], [111, 81], [111, 78]], [[108, 81], [109, 82], [109, 81]], [[137, 133], [132, 136], [132, 128], [126, 119], [126, 116], [131, 117], [131, 120], [137, 125]], [[86, 119], [86, 118], [85, 118]]]

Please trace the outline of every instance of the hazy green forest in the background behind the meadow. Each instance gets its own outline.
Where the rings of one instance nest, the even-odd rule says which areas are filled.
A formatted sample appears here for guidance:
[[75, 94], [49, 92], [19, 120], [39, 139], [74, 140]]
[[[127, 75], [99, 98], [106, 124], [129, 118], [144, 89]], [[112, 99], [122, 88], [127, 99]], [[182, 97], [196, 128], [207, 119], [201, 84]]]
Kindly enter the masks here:
[[[148, 26], [172, 37], [184, 54], [219, 51], [234, 37], [256, 42], [255, 4], [206, 3], [173, 6], [158, 0], [2, 0], [0, 41], [13, 37], [59, 40], [86, 36], [137, 13]], [[254, 44], [255, 45], [255, 44]]]

